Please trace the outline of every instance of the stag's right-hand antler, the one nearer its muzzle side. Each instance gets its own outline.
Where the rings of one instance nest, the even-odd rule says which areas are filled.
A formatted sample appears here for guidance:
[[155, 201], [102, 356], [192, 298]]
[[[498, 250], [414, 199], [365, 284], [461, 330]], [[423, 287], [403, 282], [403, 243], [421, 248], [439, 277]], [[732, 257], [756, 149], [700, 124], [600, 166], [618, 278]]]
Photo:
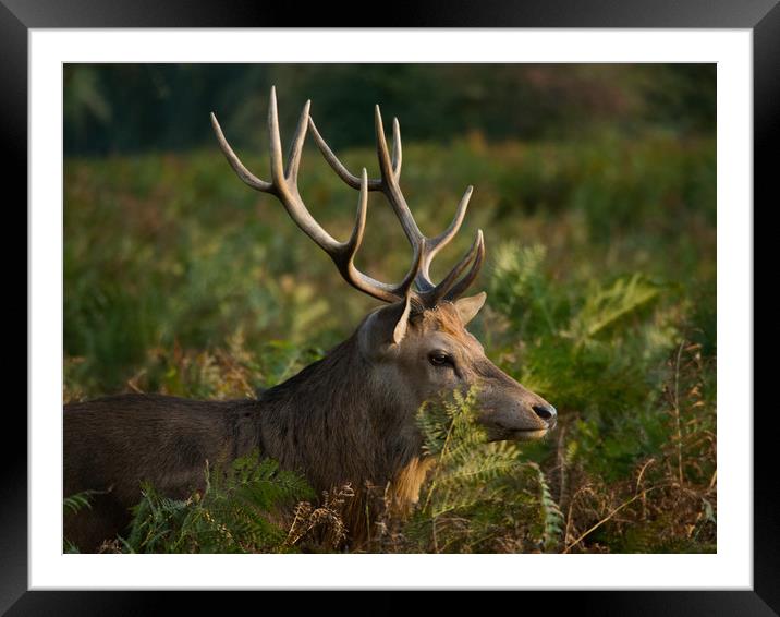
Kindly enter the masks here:
[[[450, 270], [450, 273], [443, 278], [439, 285], [435, 285], [430, 280], [430, 263], [434, 261], [436, 254], [441, 251], [458, 233], [461, 228], [463, 218], [468, 207], [468, 199], [472, 196], [473, 186], [466, 187], [463, 197], [461, 197], [455, 210], [455, 216], [452, 219], [450, 226], [441, 232], [439, 235], [428, 238], [424, 235], [417, 227], [412, 211], [406, 204], [406, 199], [401, 192], [399, 186], [399, 180], [401, 178], [401, 161], [402, 161], [402, 148], [401, 148], [401, 128], [398, 119], [393, 118], [393, 148], [392, 158], [388, 152], [388, 145], [385, 137], [385, 126], [382, 124], [381, 112], [379, 106], [375, 107], [375, 129], [377, 138], [377, 156], [379, 158], [379, 171], [381, 177], [378, 179], [368, 180], [368, 191], [379, 191], [388, 199], [390, 205], [401, 221], [401, 227], [406, 235], [412, 247], [416, 253], [422, 253], [419, 256], [421, 267], [416, 274], [414, 282], [417, 287], [417, 295], [426, 306], [435, 306], [442, 298], [448, 300], [458, 298], [462, 294], [468, 286], [474, 281], [479, 268], [482, 267], [483, 261], [485, 259], [485, 242], [483, 239], [482, 230], [477, 231], [476, 239], [470, 251], [465, 256]], [[349, 169], [338, 159], [330, 149], [328, 144], [320, 135], [314, 120], [309, 117], [308, 119], [312, 134], [314, 135], [315, 142], [319, 147], [322, 156], [328, 161], [330, 167], [348, 185], [353, 189], [361, 187], [361, 179], [350, 172]], [[463, 274], [463, 270], [472, 264], [471, 269], [466, 275], [458, 280], [458, 277]]]

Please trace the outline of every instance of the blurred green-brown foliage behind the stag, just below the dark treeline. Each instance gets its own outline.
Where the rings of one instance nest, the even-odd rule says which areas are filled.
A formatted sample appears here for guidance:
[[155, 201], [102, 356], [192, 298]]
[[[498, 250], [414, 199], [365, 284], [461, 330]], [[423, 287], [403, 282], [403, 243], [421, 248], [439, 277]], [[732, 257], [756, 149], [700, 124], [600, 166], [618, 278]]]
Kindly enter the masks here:
[[[304, 157], [302, 194], [318, 219], [343, 238], [353, 216], [344, 202], [353, 196], [317, 153]], [[373, 158], [369, 149], [344, 156], [352, 167]], [[531, 319], [538, 330], [549, 311], [566, 310], [547, 306], [550, 283], [605, 286], [610, 277], [635, 271], [647, 273], [643, 285], [684, 286], [678, 292], [688, 302], [705, 295], [696, 303], [703, 311], [714, 305], [712, 142], [680, 144], [650, 134], [631, 141], [605, 136], [576, 147], [412, 143], [405, 158], [411, 167], [437, 161], [425, 174], [404, 176], [423, 229], [443, 228], [449, 213], [434, 206], [454, 204], [454, 184], [479, 178], [466, 225], [485, 230], [487, 267], [501, 268], [500, 239], [544, 246], [535, 258], [548, 264], [547, 279], [501, 277], [511, 280], [511, 291], [491, 286], [490, 304], [502, 295], [501, 311], [512, 310], [512, 319]], [[249, 157], [251, 167], [268, 167], [265, 159], [252, 162]], [[195, 378], [181, 374], [182, 355], [192, 350], [216, 355], [215, 348], [230, 352], [242, 341], [251, 342], [253, 358], [246, 360], [255, 364], [242, 362], [248, 389], [268, 387], [289, 376], [285, 365], [300, 368], [348, 336], [371, 306], [359, 294], [340, 292], [343, 283], [327, 257], [301, 237], [272, 197], [236, 181], [216, 148], [186, 157], [66, 159], [64, 226], [65, 380], [78, 386], [75, 397], [117, 390], [129, 379], [147, 391], [181, 394]], [[468, 243], [464, 232], [451, 254]], [[388, 279], [406, 267], [398, 222], [374, 197], [357, 258]], [[441, 259], [434, 276], [447, 265]], [[526, 288], [533, 301], [520, 295]], [[508, 305], [509, 297], [520, 304]], [[702, 323], [711, 324], [715, 340], [711, 312]], [[198, 396], [219, 396], [216, 390], [209, 386]]]

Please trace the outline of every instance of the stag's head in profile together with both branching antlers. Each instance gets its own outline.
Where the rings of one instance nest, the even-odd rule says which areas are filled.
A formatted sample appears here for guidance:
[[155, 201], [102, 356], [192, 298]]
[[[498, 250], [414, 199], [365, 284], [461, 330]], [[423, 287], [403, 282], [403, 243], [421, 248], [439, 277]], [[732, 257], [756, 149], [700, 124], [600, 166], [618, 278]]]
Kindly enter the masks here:
[[[307, 101], [284, 165], [276, 90], [271, 88], [268, 114], [270, 181], [260, 180], [244, 167], [227, 142], [214, 113], [211, 123], [220, 148], [239, 178], [257, 191], [275, 195], [293, 221], [330, 256], [348, 283], [386, 303], [363, 319], [353, 337], [364, 361], [365, 370], [361, 378], [370, 386], [369, 389], [381, 392], [385, 401], [381, 408], [394, 410], [393, 413], [411, 428], [414, 411], [425, 401], [476, 386], [482, 410], [478, 421], [486, 427], [489, 439], [544, 436], [556, 424], [556, 409], [500, 371], [466, 330], [466, 325], [486, 299], [484, 292], [463, 297], [485, 258], [482, 230], [477, 231], [470, 251], [440, 282], [430, 280], [431, 261], [458, 233], [466, 214], [472, 186], [466, 189], [450, 226], [438, 235], [426, 237], [417, 227], [399, 185], [402, 152], [398, 120], [393, 120], [391, 155], [379, 107], [376, 107], [380, 178], [369, 179], [365, 168], [359, 177], [355, 176], [337, 158], [319, 134], [309, 116], [309, 107], [310, 101]], [[339, 242], [322, 229], [298, 193], [301, 153], [308, 131], [333, 171], [359, 192], [354, 229], [344, 242]], [[412, 264], [398, 283], [379, 281], [358, 270], [354, 264], [363, 240], [370, 191], [385, 195], [412, 246]]]

